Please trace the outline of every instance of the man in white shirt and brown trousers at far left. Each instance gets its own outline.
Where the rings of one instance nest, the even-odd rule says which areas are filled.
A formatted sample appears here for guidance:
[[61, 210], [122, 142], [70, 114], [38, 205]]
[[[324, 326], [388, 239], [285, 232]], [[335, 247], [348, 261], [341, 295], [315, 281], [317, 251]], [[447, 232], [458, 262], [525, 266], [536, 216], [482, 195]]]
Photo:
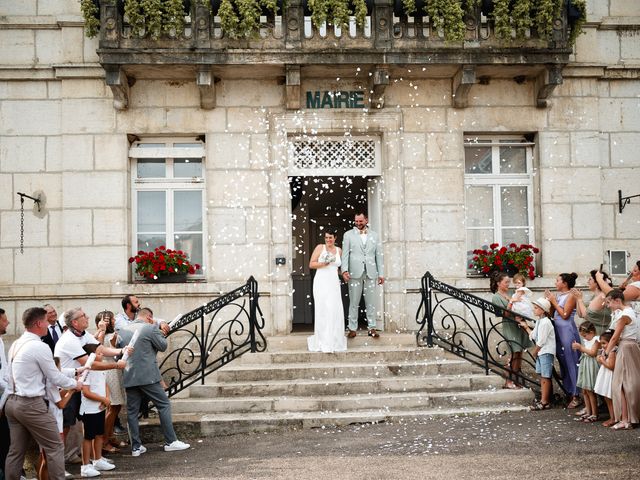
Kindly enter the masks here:
[[49, 347], [40, 341], [47, 333], [46, 311], [29, 308], [22, 315], [25, 332], [9, 350], [9, 398], [5, 414], [9, 421], [11, 446], [5, 478], [18, 480], [29, 440], [33, 437], [47, 456], [50, 480], [64, 480], [64, 446], [56, 420], [44, 400], [46, 382], [80, 390], [81, 384], [60, 372]]

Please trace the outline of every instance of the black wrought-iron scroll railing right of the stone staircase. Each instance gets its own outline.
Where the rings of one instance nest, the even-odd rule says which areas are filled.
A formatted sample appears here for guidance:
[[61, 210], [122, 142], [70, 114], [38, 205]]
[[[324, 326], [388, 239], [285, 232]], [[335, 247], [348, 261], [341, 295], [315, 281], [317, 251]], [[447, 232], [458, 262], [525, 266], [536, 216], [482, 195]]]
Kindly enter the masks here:
[[[502, 333], [502, 325], [513, 321], [505, 318], [505, 314], [528, 322], [534, 322], [533, 319], [436, 280], [429, 272], [422, 277], [420, 293], [416, 312], [416, 322], [420, 325], [416, 333], [418, 345], [439, 346], [483, 368], [487, 375], [497, 373], [540, 391], [535, 357], [527, 346], [508, 341]], [[523, 350], [522, 369], [514, 373], [508, 367], [508, 359], [518, 347]], [[557, 386], [564, 391], [555, 368], [553, 375]]]

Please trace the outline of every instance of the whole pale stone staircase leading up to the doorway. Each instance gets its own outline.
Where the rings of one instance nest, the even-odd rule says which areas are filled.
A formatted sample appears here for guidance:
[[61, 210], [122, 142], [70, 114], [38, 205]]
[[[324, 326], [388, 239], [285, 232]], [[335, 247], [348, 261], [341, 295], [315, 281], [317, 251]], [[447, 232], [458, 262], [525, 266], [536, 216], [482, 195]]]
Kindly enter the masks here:
[[[358, 336], [349, 351], [306, 351], [306, 335], [268, 339], [172, 399], [174, 425], [187, 436], [382, 422], [522, 410], [530, 390], [439, 348], [418, 348], [411, 334]], [[147, 435], [160, 431], [149, 419]]]

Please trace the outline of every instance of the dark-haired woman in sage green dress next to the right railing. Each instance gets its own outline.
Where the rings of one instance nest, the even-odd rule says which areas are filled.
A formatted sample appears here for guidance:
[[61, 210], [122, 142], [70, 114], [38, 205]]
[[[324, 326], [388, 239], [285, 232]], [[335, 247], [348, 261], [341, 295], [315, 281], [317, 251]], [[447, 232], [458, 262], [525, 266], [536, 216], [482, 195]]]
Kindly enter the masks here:
[[[505, 272], [494, 272], [489, 278], [489, 288], [493, 293], [491, 303], [500, 308], [511, 309], [511, 293], [509, 285], [511, 279]], [[522, 352], [531, 346], [531, 341], [527, 332], [525, 332], [518, 323], [507, 312], [502, 317], [502, 335], [506, 340], [511, 354], [509, 361], [510, 377], [505, 383], [505, 388], [521, 388], [513, 378], [517, 378], [522, 368]]]

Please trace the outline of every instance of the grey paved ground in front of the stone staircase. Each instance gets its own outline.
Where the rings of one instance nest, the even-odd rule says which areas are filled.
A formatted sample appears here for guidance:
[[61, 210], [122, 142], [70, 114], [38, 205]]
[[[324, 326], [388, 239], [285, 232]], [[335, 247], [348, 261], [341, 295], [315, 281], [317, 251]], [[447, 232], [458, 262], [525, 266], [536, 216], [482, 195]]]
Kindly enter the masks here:
[[102, 478], [625, 480], [640, 470], [640, 428], [614, 432], [561, 409], [190, 443], [184, 452], [149, 444], [138, 458], [114, 455], [117, 469]]

